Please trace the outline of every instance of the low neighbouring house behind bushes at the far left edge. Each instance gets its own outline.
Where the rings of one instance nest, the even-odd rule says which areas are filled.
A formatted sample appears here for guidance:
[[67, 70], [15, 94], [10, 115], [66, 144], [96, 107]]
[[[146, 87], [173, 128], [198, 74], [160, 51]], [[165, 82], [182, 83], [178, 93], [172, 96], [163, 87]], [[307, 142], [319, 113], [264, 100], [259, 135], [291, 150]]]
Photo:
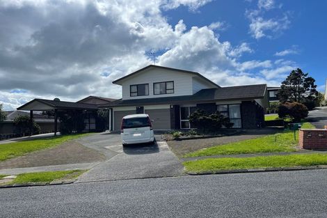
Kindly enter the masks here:
[[[6, 111], [6, 114], [6, 120], [0, 123], [0, 138], [20, 136], [15, 127], [14, 120], [18, 116], [30, 116], [30, 113], [25, 111]], [[33, 113], [33, 120], [40, 126], [40, 133], [54, 132], [54, 117]]]

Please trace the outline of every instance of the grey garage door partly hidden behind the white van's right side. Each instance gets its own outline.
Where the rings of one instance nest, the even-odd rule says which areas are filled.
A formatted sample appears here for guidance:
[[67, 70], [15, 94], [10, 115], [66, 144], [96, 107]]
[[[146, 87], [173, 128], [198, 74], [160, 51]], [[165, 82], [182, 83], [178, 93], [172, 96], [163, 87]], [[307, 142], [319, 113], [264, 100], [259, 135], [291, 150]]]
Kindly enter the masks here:
[[145, 114], [154, 120], [154, 129], [170, 129], [170, 109], [145, 109]]

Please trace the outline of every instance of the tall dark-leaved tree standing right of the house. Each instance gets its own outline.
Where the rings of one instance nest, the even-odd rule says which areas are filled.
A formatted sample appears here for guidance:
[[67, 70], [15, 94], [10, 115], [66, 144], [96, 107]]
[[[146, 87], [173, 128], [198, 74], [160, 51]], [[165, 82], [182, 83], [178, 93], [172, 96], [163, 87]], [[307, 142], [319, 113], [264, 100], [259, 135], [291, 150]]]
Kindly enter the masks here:
[[297, 68], [292, 70], [285, 81], [282, 81], [277, 96], [282, 103], [312, 101], [318, 95], [317, 85], [314, 82], [312, 77], [308, 77], [308, 73]]

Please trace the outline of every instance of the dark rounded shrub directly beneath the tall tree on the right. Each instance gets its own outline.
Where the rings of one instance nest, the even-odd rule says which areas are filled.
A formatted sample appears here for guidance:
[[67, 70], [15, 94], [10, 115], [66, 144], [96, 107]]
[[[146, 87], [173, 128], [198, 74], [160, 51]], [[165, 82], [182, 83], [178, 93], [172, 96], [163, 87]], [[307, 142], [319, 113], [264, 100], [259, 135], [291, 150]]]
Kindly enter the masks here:
[[301, 119], [308, 116], [308, 107], [298, 102], [286, 102], [278, 107], [280, 118], [291, 118], [293, 122], [301, 122]]

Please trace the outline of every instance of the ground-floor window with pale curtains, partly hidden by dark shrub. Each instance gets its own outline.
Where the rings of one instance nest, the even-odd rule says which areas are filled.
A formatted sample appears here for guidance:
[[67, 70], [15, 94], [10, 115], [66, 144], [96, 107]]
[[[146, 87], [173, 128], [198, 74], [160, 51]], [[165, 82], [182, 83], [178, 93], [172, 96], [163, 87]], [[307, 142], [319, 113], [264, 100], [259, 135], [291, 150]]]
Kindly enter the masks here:
[[230, 122], [234, 123], [233, 128], [241, 128], [241, 104], [221, 104], [217, 105], [217, 111], [223, 116], [230, 118]]

